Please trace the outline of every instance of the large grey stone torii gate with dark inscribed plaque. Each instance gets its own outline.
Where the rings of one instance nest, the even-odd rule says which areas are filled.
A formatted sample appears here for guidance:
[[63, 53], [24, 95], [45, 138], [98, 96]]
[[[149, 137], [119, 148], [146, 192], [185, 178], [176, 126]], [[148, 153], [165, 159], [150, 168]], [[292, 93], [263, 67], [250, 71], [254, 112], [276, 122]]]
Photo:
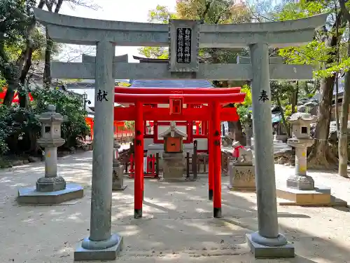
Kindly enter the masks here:
[[[97, 47], [95, 60], [52, 62], [52, 77], [95, 79], [94, 150], [90, 236], [74, 253], [75, 260], [115, 259], [123, 238], [111, 234], [113, 104], [115, 79], [249, 80], [252, 84], [258, 231], [247, 234], [255, 257], [293, 257], [294, 248], [279, 234], [271, 125], [270, 80], [311, 79], [306, 65], [269, 65], [269, 47], [311, 41], [327, 14], [284, 22], [200, 25], [171, 20], [169, 25], [93, 20], [35, 9], [53, 41]], [[114, 59], [115, 46], [169, 46], [169, 65], [127, 63]], [[241, 48], [250, 64], [200, 64], [198, 48]], [[119, 60], [120, 61], [120, 60]]]

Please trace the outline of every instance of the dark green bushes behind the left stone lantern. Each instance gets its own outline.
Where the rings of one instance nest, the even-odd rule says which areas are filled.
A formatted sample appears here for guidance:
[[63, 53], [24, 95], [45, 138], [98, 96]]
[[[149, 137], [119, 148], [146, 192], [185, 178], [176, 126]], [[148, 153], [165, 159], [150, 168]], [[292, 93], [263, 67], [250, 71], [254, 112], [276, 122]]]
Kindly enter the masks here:
[[36, 139], [41, 135], [38, 114], [46, 112], [48, 104], [55, 104], [56, 112], [67, 116], [67, 121], [62, 123], [62, 137], [66, 140], [63, 147], [74, 147], [77, 139], [83, 140], [89, 134], [80, 97], [62, 90], [41, 88], [32, 90], [31, 95], [34, 100], [30, 109], [0, 104], [0, 155], [8, 150], [16, 154], [36, 153]]

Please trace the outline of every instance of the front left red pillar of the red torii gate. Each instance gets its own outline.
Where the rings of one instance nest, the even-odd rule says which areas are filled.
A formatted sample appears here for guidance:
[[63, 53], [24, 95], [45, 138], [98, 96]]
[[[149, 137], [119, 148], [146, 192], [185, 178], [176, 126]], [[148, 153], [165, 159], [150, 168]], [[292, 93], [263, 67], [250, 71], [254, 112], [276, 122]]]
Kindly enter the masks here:
[[135, 179], [134, 179], [134, 218], [142, 217], [142, 203], [144, 200], [144, 114], [142, 102], [136, 102], [135, 120]]

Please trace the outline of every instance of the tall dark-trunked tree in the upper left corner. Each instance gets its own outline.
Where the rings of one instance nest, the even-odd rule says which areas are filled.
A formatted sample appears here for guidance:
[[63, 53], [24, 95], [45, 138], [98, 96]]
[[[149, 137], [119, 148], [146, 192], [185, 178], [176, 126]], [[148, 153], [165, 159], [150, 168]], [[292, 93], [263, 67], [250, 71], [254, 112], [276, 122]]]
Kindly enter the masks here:
[[[43, 8], [45, 0], [38, 2]], [[10, 106], [15, 90], [20, 91], [20, 105], [26, 106], [24, 87], [34, 51], [41, 47], [40, 32], [32, 8], [34, 0], [3, 0], [0, 2], [0, 72], [8, 85], [3, 104]]]

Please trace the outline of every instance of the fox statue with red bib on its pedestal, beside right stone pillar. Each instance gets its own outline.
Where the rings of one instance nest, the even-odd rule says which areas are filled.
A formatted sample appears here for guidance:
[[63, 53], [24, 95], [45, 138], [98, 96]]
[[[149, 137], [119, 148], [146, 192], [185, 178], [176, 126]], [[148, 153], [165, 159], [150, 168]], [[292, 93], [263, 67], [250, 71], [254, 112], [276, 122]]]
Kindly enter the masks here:
[[236, 159], [230, 160], [228, 173], [230, 184], [228, 188], [234, 191], [255, 191], [255, 167], [253, 165], [253, 152], [246, 149], [239, 142], [232, 143], [237, 149]]

